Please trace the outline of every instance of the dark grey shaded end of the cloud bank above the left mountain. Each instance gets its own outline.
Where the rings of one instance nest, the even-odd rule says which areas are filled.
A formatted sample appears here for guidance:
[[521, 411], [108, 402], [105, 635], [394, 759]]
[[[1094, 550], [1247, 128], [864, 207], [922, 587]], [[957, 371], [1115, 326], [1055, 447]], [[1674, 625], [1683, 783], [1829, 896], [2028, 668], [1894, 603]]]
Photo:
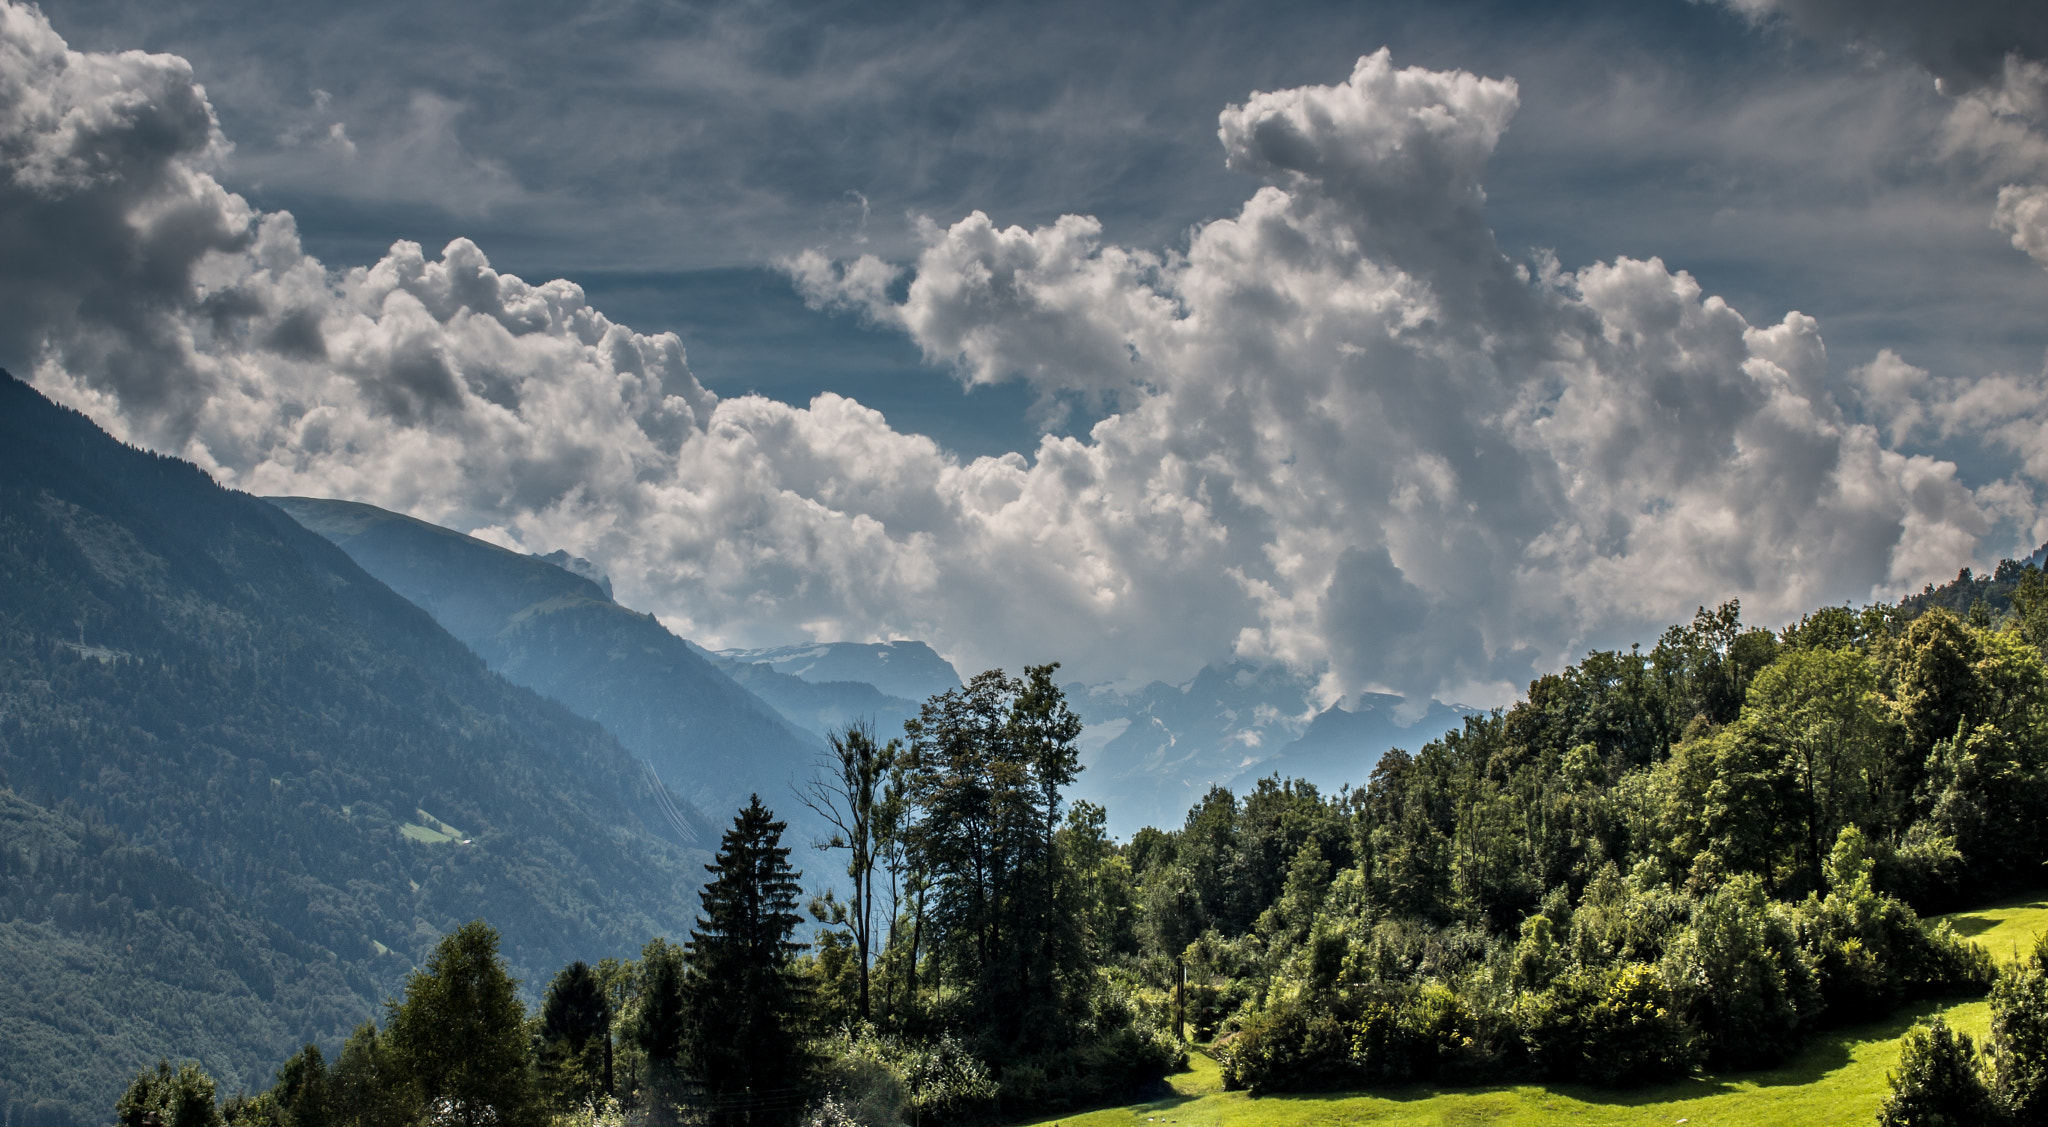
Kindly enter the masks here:
[[193, 270], [248, 240], [248, 209], [195, 174], [223, 152], [213, 113], [184, 59], [76, 55], [33, 12], [0, 20], [0, 365], [68, 340], [137, 410], [186, 416], [203, 381], [162, 369], [188, 316], [233, 316]]

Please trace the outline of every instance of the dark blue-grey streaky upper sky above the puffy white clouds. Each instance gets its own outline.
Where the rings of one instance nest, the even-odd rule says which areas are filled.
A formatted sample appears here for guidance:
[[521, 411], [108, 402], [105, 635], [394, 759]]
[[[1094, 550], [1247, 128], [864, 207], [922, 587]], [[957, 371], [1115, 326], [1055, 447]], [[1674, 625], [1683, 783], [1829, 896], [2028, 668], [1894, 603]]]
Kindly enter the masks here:
[[[1513, 254], [1686, 262], [1751, 318], [1827, 318], [1845, 357], [1892, 346], [1982, 371], [2034, 367], [2048, 344], [2011, 316], [2048, 301], [2048, 275], [1980, 223], [1999, 182], [1929, 158], [1948, 102], [1921, 72], [1772, 43], [1714, 4], [49, 10], [78, 45], [195, 59], [236, 137], [223, 182], [293, 211], [328, 262], [457, 236], [524, 277], [678, 277], [807, 246], [901, 260], [911, 215], [975, 209], [1094, 215], [1120, 242], [1174, 246], [1249, 182], [1214, 160], [1219, 107], [1389, 45], [1520, 82], [1487, 201]], [[651, 297], [635, 324], [688, 330], [694, 291]], [[829, 350], [854, 330], [809, 332]], [[848, 379], [864, 398], [889, 385]], [[977, 434], [958, 439], [989, 449]]]

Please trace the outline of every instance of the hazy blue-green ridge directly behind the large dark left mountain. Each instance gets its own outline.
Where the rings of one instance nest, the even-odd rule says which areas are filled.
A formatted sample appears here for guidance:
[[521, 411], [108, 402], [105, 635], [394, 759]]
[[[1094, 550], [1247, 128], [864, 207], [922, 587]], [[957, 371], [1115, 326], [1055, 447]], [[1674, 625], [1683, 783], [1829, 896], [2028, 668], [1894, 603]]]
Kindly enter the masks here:
[[369, 504], [270, 500], [432, 615], [506, 680], [602, 723], [702, 809], [723, 813], [758, 791], [795, 813], [784, 809], [795, 805], [788, 785], [817, 762], [817, 736], [653, 615], [612, 602], [588, 561], [520, 555]]

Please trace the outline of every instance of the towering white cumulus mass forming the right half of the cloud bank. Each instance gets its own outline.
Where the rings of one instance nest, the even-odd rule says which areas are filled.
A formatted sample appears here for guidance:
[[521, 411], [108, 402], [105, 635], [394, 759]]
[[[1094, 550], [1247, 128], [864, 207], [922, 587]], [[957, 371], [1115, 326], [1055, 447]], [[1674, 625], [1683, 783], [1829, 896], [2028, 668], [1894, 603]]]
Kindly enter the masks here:
[[969, 379], [1116, 387], [1096, 482], [1198, 467], [1239, 654], [1341, 688], [1497, 686], [1690, 600], [1769, 619], [1970, 557], [1993, 514], [1845, 418], [1810, 318], [1751, 326], [1657, 260], [1507, 262], [1479, 176], [1513, 107], [1380, 51], [1223, 113], [1274, 184], [1184, 254], [977, 213], [901, 301], [872, 260], [797, 275]]

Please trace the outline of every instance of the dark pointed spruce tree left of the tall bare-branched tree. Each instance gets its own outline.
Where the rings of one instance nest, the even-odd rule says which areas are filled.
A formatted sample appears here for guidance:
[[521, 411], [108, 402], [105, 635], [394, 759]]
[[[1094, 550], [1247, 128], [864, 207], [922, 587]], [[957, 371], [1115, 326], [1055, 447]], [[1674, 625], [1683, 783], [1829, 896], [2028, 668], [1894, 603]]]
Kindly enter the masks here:
[[686, 945], [684, 1059], [713, 1123], [795, 1123], [807, 1098], [807, 998], [793, 957], [797, 879], [786, 824], [760, 795], [719, 842], [705, 916]]

